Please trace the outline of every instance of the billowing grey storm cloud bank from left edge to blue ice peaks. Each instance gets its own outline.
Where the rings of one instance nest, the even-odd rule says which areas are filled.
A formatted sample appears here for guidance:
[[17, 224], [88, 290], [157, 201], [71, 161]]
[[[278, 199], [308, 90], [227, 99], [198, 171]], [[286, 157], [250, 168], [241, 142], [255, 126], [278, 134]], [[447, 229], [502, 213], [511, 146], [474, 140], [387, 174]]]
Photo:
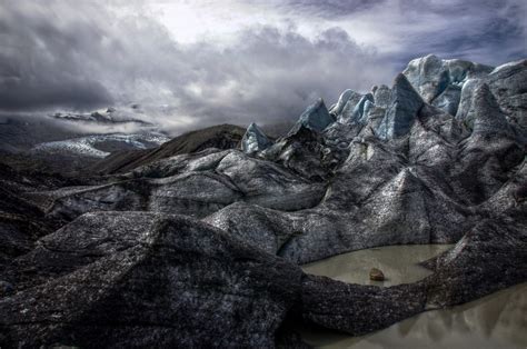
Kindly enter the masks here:
[[117, 20], [96, 2], [69, 3], [1, 6], [1, 109], [140, 101], [171, 103], [175, 118], [191, 123], [266, 122], [392, 73], [338, 28], [308, 39], [295, 28], [259, 26], [227, 48], [181, 46], [151, 18]]

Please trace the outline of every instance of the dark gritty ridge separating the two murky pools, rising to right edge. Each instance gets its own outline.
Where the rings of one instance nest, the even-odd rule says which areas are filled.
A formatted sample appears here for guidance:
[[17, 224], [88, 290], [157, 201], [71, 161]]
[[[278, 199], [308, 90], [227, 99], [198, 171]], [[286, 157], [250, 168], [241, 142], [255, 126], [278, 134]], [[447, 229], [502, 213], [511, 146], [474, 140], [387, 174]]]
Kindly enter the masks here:
[[425, 310], [453, 307], [525, 282], [527, 227], [523, 209], [525, 205], [495, 211], [494, 218], [479, 222], [451, 250], [422, 263], [434, 273], [414, 283], [385, 288], [307, 276], [297, 316], [308, 323], [360, 336]]

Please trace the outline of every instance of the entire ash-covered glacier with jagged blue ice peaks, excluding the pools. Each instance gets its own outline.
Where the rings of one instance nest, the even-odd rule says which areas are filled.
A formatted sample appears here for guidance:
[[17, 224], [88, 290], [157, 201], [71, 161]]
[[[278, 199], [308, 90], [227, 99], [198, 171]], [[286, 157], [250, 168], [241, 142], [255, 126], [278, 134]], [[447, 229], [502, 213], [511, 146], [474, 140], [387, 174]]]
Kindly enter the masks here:
[[[428, 56], [272, 143], [222, 126], [77, 181], [0, 168], [0, 346], [300, 348], [291, 321], [362, 335], [526, 281], [526, 67]], [[445, 242], [409, 285], [298, 268]]]

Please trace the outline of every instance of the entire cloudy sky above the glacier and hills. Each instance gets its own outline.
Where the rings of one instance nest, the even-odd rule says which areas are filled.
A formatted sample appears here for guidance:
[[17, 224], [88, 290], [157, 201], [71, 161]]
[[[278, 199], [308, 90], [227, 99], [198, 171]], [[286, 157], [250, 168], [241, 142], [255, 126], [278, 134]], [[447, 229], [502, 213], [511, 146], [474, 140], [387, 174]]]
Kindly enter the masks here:
[[140, 103], [172, 128], [280, 122], [428, 53], [525, 59], [526, 28], [525, 0], [1, 0], [0, 112]]

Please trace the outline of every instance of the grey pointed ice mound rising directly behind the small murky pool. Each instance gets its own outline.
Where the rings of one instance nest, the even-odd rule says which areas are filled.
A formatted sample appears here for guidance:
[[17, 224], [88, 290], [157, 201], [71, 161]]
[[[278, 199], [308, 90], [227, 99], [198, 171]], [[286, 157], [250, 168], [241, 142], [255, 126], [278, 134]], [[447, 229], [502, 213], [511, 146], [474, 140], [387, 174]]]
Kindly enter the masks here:
[[[438, 169], [406, 166], [375, 138], [354, 141], [349, 158], [317, 206], [265, 215], [236, 205], [213, 215], [211, 223], [235, 235], [241, 235], [237, 227], [247, 227], [259, 237], [251, 241], [297, 263], [390, 243], [457, 241], [476, 217], [458, 203], [449, 185], [436, 174]], [[278, 248], [276, 236], [287, 232], [298, 233]]]

